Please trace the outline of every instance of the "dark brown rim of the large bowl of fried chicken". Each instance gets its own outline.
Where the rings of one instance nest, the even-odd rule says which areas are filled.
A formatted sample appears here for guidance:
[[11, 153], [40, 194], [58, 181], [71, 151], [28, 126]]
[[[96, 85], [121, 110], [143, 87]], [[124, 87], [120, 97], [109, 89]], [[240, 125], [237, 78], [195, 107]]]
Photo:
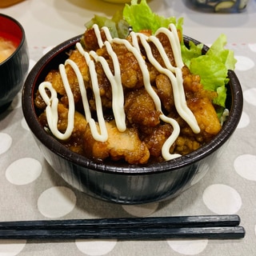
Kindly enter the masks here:
[[[194, 150], [190, 154], [182, 155], [179, 158], [174, 158], [166, 162], [158, 162], [148, 165], [108, 165], [104, 162], [98, 163], [94, 162], [90, 158], [86, 158], [80, 154], [74, 153], [73, 151], [63, 146], [50, 134], [47, 134], [43, 127], [39, 124], [38, 117], [34, 108], [34, 104], [30, 104], [34, 99], [34, 83], [37, 81], [40, 72], [44, 67], [53, 59], [56, 58], [58, 53], [63, 50], [69, 49], [71, 46], [74, 46], [76, 42], [79, 42], [82, 37], [82, 34], [70, 38], [65, 42], [62, 42], [58, 46], [55, 46], [52, 50], [46, 53], [42, 58], [35, 64], [35, 66], [30, 70], [26, 81], [22, 89], [22, 111], [30, 130], [34, 134], [35, 138], [38, 139], [44, 146], [46, 146], [53, 154], [58, 155], [58, 157], [64, 158], [67, 161], [72, 162], [76, 166], [82, 166], [84, 168], [89, 168], [90, 170], [95, 170], [105, 173], [113, 174], [130, 174], [130, 175], [139, 175], [139, 174], [157, 174], [159, 172], [166, 172], [177, 170], [196, 162], [199, 162], [203, 158], [206, 158], [214, 151], [218, 150], [234, 133], [234, 130], [238, 126], [238, 122], [242, 115], [242, 88], [240, 82], [234, 71], [228, 70], [228, 76], [230, 78], [230, 95], [233, 97], [233, 101], [230, 104], [230, 115], [226, 118], [226, 122], [222, 126], [222, 130], [204, 146]], [[194, 42], [195, 44], [201, 43], [197, 40], [190, 38], [186, 35], [183, 35], [184, 41], [188, 43], [189, 41]], [[208, 46], [203, 45], [202, 50], [206, 52]]]

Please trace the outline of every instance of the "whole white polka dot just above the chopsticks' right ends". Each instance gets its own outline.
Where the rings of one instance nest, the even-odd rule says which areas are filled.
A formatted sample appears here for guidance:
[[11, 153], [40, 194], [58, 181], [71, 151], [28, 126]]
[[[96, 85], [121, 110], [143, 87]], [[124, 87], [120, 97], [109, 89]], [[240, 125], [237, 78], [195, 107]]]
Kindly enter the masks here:
[[202, 199], [215, 214], [235, 214], [242, 206], [238, 192], [224, 184], [208, 186], [202, 194]]

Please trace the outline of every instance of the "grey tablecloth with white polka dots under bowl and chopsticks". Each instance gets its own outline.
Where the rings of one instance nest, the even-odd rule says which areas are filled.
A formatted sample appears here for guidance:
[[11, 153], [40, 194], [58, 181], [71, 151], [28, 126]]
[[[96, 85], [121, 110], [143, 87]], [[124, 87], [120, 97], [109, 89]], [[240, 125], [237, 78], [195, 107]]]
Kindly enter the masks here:
[[[239, 214], [242, 240], [0, 240], [3, 255], [254, 255], [256, 251], [256, 44], [229, 44], [244, 109], [238, 129], [206, 176], [178, 198], [140, 206], [102, 202], [74, 190], [42, 158], [22, 115], [21, 97], [0, 114], [0, 221]], [[30, 68], [51, 47], [30, 49]]]

